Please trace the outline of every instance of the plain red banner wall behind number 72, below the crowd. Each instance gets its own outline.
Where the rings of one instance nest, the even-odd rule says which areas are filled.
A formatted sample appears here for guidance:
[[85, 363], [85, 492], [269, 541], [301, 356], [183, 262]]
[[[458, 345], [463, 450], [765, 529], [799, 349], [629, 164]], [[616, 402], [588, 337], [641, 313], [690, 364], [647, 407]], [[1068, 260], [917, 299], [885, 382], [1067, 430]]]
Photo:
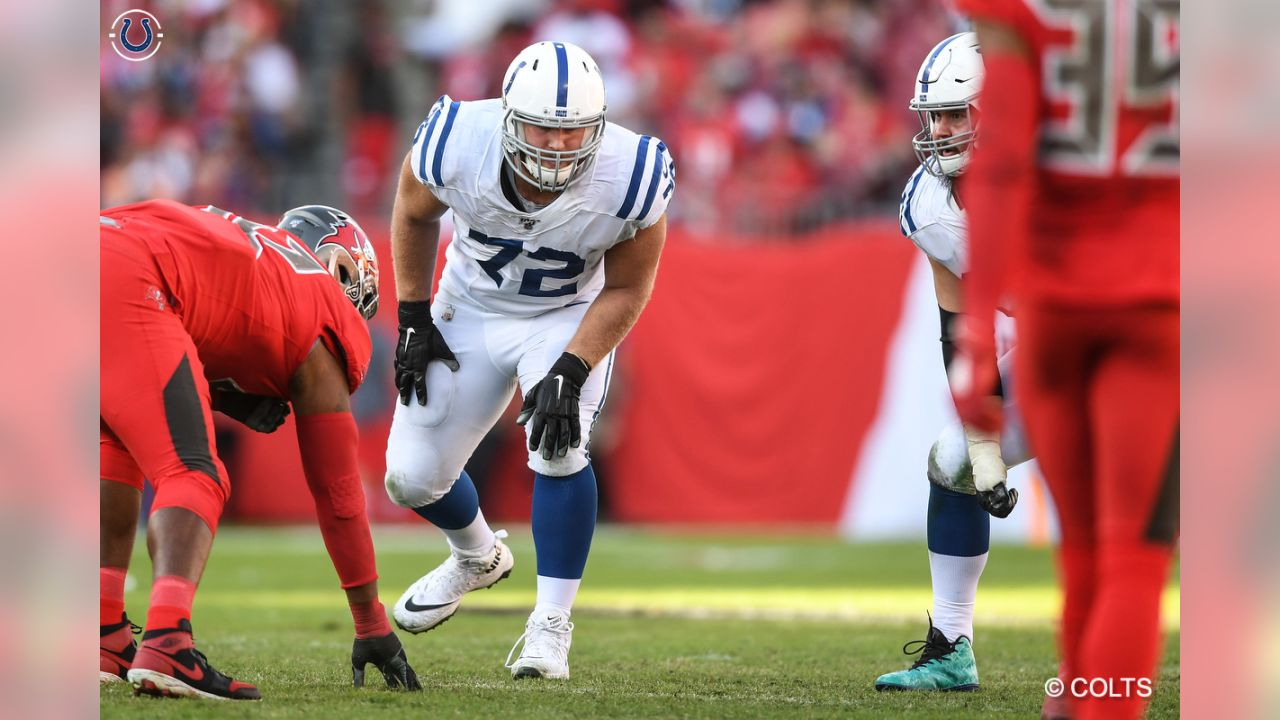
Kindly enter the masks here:
[[[372, 324], [374, 363], [390, 368], [394, 288], [385, 233], [376, 234], [388, 301]], [[911, 260], [886, 224], [772, 243], [708, 243], [673, 229], [653, 299], [618, 351], [594, 443], [612, 519], [835, 523], [876, 416]], [[379, 521], [415, 518], [381, 488], [389, 382], [371, 373], [356, 396]], [[230, 516], [311, 521], [292, 421], [269, 437], [236, 437]], [[521, 438], [507, 433], [490, 477], [476, 478], [490, 519], [527, 518]]]

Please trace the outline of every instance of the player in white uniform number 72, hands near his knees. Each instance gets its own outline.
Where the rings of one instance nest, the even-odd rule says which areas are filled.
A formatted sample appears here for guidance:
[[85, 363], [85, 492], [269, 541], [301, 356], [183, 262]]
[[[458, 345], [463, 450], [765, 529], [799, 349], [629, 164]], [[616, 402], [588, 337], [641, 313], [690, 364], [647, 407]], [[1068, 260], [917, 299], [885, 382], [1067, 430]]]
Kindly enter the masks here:
[[440, 97], [419, 127], [392, 217], [401, 402], [387, 492], [440, 528], [451, 553], [396, 603], [401, 628], [430, 630], [511, 573], [506, 533], [485, 523], [463, 465], [518, 383], [538, 601], [507, 666], [568, 676], [570, 611], [595, 528], [591, 428], [614, 347], [653, 290], [675, 187], [666, 145], [605, 122], [600, 70], [567, 42], [522, 50], [500, 99]]

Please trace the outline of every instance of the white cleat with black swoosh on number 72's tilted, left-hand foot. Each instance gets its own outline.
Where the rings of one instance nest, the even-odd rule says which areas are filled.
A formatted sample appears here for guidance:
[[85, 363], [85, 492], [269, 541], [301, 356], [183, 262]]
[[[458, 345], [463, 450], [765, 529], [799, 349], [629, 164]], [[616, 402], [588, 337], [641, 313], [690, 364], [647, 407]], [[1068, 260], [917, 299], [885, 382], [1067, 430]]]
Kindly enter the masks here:
[[511, 575], [515, 556], [502, 538], [507, 530], [494, 533], [493, 550], [468, 556], [451, 552], [439, 568], [422, 575], [396, 602], [392, 618], [402, 630], [425, 633], [444, 623], [458, 610], [462, 596], [490, 588]]

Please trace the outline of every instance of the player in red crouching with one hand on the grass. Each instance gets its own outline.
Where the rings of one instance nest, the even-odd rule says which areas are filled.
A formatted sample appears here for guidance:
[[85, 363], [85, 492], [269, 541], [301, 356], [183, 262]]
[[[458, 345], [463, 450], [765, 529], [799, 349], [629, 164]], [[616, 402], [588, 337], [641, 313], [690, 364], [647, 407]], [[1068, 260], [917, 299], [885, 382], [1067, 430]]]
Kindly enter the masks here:
[[[365, 320], [378, 309], [378, 264], [364, 231], [323, 205], [270, 227], [154, 200], [104, 211], [101, 252], [100, 680], [124, 678], [159, 696], [260, 697], [195, 648], [191, 605], [230, 495], [212, 411], [271, 432], [292, 405], [320, 530], [356, 625], [355, 684], [374, 664], [388, 685], [417, 689], [378, 601], [356, 465], [351, 393], [369, 366]], [[155, 582], [137, 647], [124, 575], [143, 477], [155, 487]]]

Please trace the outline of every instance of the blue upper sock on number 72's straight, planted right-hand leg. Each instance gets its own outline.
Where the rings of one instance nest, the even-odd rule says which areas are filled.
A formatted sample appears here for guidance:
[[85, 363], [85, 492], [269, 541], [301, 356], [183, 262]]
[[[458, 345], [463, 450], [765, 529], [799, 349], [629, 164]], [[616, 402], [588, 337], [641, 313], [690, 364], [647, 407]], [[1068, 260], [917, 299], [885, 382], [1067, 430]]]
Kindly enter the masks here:
[[539, 575], [582, 578], [595, 532], [595, 473], [590, 465], [562, 478], [534, 473], [532, 523]]

